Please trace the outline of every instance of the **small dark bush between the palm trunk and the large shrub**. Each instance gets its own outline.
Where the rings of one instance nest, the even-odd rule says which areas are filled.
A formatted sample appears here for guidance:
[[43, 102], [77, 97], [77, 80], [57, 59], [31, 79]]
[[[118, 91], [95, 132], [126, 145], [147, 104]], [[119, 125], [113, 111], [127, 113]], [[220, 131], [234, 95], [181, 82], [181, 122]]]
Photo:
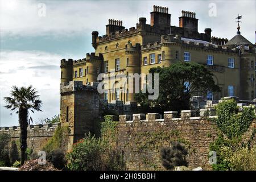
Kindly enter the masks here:
[[57, 169], [63, 169], [67, 160], [65, 159], [65, 154], [62, 150], [54, 150], [47, 154], [47, 160], [53, 164]]

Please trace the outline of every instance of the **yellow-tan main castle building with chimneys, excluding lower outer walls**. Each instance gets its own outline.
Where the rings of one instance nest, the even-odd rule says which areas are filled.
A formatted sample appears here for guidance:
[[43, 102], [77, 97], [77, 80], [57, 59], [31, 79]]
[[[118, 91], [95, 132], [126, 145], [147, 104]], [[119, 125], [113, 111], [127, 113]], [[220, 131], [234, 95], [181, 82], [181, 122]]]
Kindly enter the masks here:
[[[195, 13], [182, 11], [179, 27], [171, 26], [167, 7], [154, 6], [150, 14], [150, 24], [146, 18], [139, 18], [135, 27], [126, 29], [122, 21], [109, 19], [105, 35], [99, 36], [93, 31], [95, 52], [87, 53], [80, 60], [61, 60], [61, 82], [82, 81], [90, 85], [98, 81], [100, 73], [110, 77], [113, 71], [128, 78], [129, 73], [147, 74], [152, 67], [168, 67], [177, 61], [187, 61], [205, 65], [221, 88], [218, 93], [204, 93], [204, 99], [255, 98], [255, 45], [241, 35], [240, 27], [231, 40], [221, 39], [213, 37], [210, 28], [199, 33]], [[141, 79], [140, 89], [144, 86]], [[114, 83], [101, 97], [108, 102], [134, 102], [134, 92], [129, 93], [127, 88], [126, 83]]]

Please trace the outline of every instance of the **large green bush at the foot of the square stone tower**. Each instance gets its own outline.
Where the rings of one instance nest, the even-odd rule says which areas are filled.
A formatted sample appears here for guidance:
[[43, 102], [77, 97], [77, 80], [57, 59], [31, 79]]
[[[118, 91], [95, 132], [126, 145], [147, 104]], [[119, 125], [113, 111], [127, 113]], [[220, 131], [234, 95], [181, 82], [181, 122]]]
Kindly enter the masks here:
[[67, 154], [68, 169], [79, 171], [125, 169], [122, 152], [101, 138], [90, 134], [75, 143]]

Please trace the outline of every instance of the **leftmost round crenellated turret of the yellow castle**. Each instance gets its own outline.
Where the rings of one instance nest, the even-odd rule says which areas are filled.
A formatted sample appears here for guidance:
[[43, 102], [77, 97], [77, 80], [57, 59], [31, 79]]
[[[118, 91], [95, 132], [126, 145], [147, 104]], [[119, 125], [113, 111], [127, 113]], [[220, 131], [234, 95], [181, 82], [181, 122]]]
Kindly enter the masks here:
[[60, 70], [61, 70], [60, 82], [72, 81], [73, 60], [72, 59], [60, 60]]

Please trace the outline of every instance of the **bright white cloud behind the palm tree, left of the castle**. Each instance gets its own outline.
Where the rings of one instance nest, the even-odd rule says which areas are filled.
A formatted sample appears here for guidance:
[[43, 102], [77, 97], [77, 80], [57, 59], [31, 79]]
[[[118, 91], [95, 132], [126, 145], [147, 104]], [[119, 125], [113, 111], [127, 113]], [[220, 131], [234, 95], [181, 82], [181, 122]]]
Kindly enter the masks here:
[[0, 52], [0, 104], [1, 126], [18, 125], [16, 114], [3, 106], [3, 97], [9, 96], [11, 86], [32, 85], [38, 90], [43, 101], [43, 112], [32, 114], [36, 121], [40, 118], [59, 114], [60, 55], [41, 51]]

